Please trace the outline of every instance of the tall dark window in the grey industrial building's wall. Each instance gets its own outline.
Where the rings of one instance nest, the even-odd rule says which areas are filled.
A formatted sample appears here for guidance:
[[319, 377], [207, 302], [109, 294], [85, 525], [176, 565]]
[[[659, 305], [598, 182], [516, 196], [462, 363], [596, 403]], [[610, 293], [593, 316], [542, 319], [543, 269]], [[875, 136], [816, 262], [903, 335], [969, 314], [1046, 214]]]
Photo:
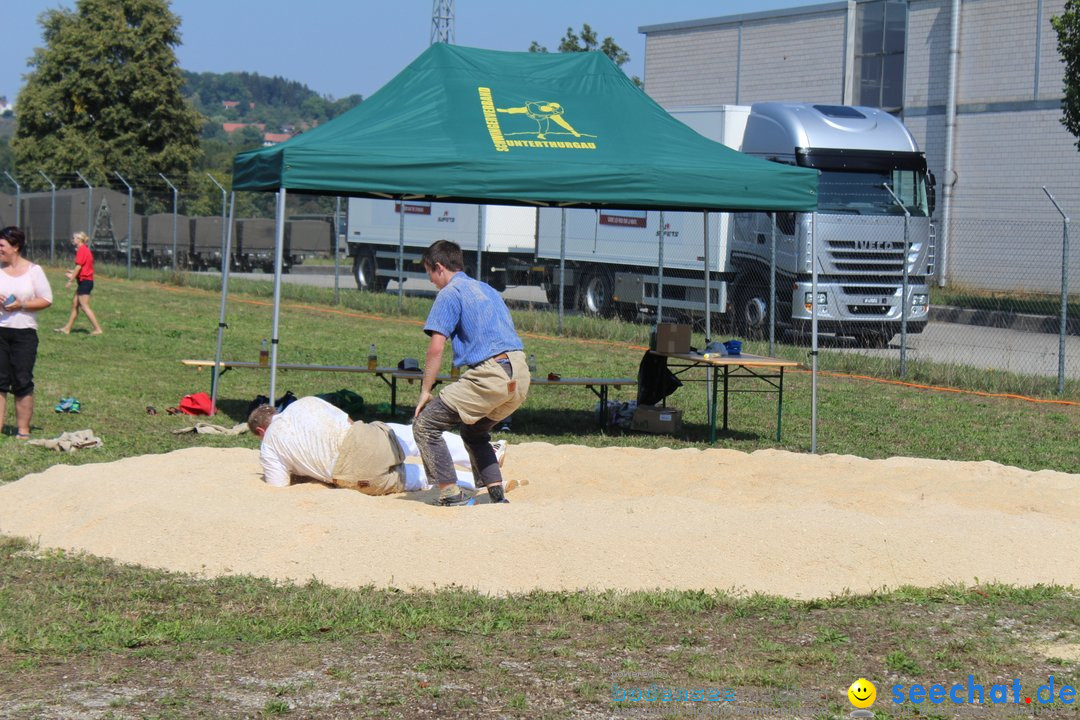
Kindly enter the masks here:
[[872, 0], [855, 9], [859, 104], [893, 114], [904, 107], [907, 0]]

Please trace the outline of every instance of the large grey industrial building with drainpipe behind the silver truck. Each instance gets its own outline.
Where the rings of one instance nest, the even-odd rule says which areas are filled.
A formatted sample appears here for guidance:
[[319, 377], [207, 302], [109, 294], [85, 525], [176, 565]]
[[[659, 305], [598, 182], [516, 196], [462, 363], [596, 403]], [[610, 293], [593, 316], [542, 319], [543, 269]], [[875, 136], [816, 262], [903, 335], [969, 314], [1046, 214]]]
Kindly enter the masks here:
[[[1061, 124], [1064, 65], [1051, 26], [1064, 6], [848, 0], [650, 25], [639, 28], [645, 90], [669, 108], [799, 100], [887, 109], [937, 179], [940, 280], [1056, 293], [1062, 216], [1043, 186], [1080, 217], [1080, 153]], [[1080, 277], [1078, 249], [1070, 266]]]

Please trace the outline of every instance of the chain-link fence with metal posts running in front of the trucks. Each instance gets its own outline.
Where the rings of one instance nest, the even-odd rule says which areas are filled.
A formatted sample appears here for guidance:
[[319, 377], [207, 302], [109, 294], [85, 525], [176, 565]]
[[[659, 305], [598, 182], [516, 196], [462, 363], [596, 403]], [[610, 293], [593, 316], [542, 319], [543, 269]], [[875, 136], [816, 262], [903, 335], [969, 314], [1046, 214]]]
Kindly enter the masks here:
[[[70, 186], [0, 194], [0, 221], [21, 222], [39, 259], [68, 257], [70, 234], [90, 228], [99, 262], [125, 264], [131, 242], [136, 267], [219, 269], [222, 217], [183, 214], [179, 192], [174, 213], [167, 184], [139, 181], [131, 194]], [[465, 250], [471, 274], [512, 302], [561, 317], [691, 323], [699, 343], [741, 339], [751, 352], [800, 361], [815, 297], [822, 370], [1076, 397], [1080, 242], [1063, 255], [1068, 225], [1049, 198], [1042, 205], [1037, 218], [955, 218], [943, 248], [936, 223], [905, 217], [900, 204], [874, 215], [706, 216], [353, 199], [342, 203], [349, 220], [337, 233], [333, 216], [287, 209], [284, 255], [295, 270], [334, 257], [345, 235], [343, 270], [359, 288], [430, 293], [419, 257], [446, 237]], [[232, 231], [230, 267], [272, 272], [274, 219], [239, 218]]]

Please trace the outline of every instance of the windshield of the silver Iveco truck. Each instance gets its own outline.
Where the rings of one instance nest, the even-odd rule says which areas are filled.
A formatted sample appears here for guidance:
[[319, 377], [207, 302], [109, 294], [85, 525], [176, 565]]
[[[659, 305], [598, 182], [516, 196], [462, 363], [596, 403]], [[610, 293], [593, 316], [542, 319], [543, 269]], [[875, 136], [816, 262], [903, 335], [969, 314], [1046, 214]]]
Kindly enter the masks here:
[[818, 209], [853, 215], [903, 215], [885, 185], [896, 193], [913, 217], [928, 215], [926, 173], [915, 169], [823, 169]]

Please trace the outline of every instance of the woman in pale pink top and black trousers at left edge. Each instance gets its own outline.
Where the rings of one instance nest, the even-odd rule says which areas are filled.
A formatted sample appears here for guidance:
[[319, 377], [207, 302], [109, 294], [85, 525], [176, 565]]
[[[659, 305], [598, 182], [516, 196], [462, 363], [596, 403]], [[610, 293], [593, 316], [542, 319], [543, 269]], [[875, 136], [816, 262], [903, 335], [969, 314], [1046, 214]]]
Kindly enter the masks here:
[[15, 396], [15, 434], [30, 437], [33, 417], [33, 363], [38, 358], [39, 310], [53, 304], [45, 273], [23, 257], [26, 235], [0, 230], [0, 423], [8, 417], [8, 393]]

